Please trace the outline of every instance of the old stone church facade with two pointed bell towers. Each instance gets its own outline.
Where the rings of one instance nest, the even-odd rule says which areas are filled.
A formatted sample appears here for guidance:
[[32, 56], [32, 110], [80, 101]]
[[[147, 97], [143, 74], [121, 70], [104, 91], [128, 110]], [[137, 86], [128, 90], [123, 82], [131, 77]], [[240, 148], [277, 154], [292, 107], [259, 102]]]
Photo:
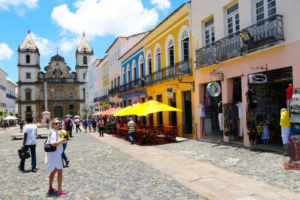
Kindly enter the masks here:
[[[50, 58], [44, 71], [40, 70], [39, 50], [30, 31], [18, 47], [18, 114], [21, 118], [42, 118], [47, 98], [47, 111], [51, 117], [62, 118], [66, 114], [82, 116], [84, 110], [84, 82], [88, 62], [93, 56], [84, 33], [77, 47], [75, 71], [66, 65], [57, 52]], [[44, 82], [47, 88], [44, 88]], [[45, 89], [47, 96], [45, 97]]]

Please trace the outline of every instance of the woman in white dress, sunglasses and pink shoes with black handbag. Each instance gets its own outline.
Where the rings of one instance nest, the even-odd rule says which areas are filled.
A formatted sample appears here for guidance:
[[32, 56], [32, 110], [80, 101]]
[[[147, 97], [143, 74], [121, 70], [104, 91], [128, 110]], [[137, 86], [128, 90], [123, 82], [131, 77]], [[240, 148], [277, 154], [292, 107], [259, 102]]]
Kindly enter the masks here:
[[52, 182], [54, 179], [54, 175], [57, 172], [57, 184], [58, 184], [58, 192], [57, 195], [66, 194], [67, 191], [63, 191], [61, 189], [62, 184], [62, 161], [61, 161], [61, 153], [62, 153], [62, 142], [66, 140], [66, 138], [61, 138], [58, 133], [58, 128], [60, 125], [60, 121], [58, 118], [54, 118], [51, 121], [52, 129], [50, 130], [50, 133], [47, 138], [46, 143], [52, 144], [52, 146], [56, 146], [56, 150], [53, 152], [46, 152], [45, 156], [45, 165], [46, 165], [46, 171], [51, 172], [49, 176], [49, 188], [47, 192], [54, 191], [56, 188], [52, 187]]

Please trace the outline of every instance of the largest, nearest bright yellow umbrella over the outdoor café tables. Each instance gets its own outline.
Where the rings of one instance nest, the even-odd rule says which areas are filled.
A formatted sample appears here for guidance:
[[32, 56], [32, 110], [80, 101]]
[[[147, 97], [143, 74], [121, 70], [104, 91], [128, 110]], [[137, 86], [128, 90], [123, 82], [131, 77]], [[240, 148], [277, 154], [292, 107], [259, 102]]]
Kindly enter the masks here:
[[154, 100], [149, 100], [142, 103], [136, 108], [132, 108], [130, 111], [138, 116], [141, 116], [141, 115], [147, 115], [159, 111], [182, 111], [182, 110]]

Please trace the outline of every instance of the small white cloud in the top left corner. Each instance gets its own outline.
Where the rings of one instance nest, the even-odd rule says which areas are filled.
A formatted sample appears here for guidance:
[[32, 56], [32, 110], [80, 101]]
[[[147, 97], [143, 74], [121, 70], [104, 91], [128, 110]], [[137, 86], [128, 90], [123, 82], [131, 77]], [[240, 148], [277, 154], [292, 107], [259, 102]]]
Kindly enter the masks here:
[[23, 15], [26, 9], [35, 9], [38, 0], [0, 0], [0, 9], [10, 11], [9, 7], [13, 7], [18, 15]]

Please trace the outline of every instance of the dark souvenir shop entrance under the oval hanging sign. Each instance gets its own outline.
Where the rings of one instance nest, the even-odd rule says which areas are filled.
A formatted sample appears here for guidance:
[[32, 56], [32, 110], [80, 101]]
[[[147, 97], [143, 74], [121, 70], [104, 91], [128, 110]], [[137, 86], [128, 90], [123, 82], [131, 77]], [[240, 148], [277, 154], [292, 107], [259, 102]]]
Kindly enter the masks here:
[[[247, 129], [251, 128], [249, 124], [250, 126], [255, 125], [257, 134], [257, 125], [261, 122], [263, 133], [261, 139], [259, 135], [249, 137], [250, 144], [267, 144], [271, 147], [282, 148], [280, 110], [287, 107], [286, 88], [292, 83], [292, 67], [262, 71], [260, 74], [265, 74], [266, 82], [248, 83], [249, 90], [255, 94], [257, 106], [251, 115], [247, 109]], [[247, 108], [248, 106], [247, 103]], [[252, 117], [252, 120], [249, 120], [249, 116], [255, 116], [255, 118]]]

